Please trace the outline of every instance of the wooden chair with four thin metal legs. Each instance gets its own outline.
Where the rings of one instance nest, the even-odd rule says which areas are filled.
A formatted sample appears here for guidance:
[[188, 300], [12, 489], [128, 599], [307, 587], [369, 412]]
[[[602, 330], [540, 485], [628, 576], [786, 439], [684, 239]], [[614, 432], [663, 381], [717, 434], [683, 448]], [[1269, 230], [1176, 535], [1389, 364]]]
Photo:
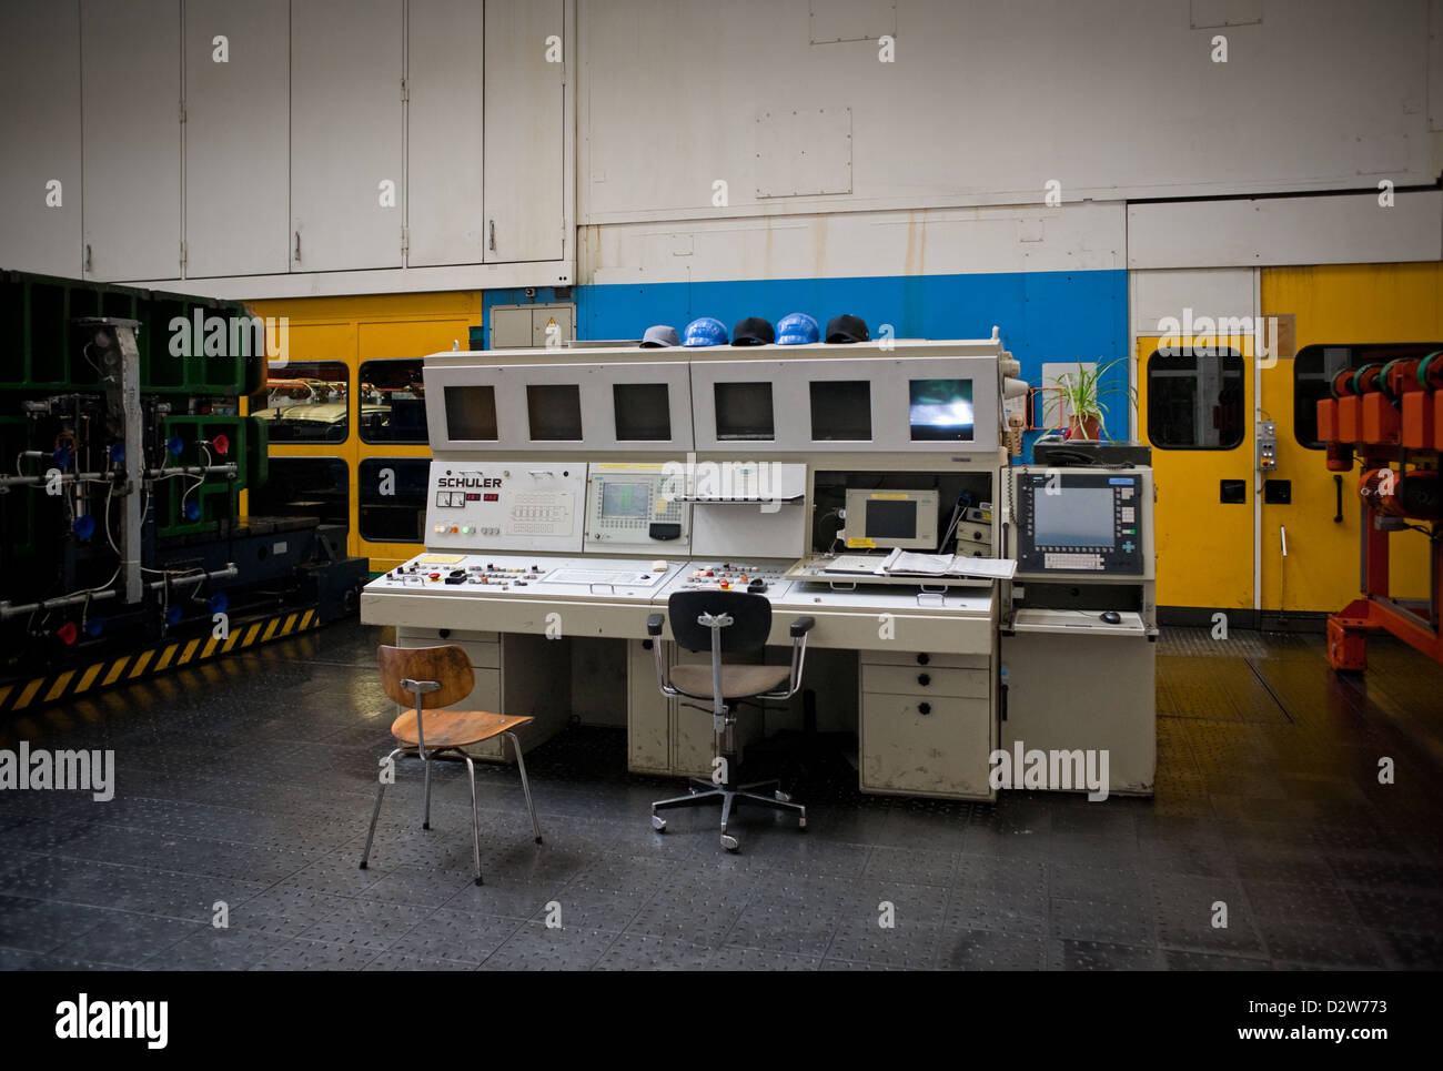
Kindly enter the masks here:
[[[385, 694], [404, 706], [413, 706], [391, 723], [391, 736], [401, 746], [392, 751], [385, 762], [394, 762], [397, 755], [420, 758], [426, 764], [426, 816], [421, 829], [431, 827], [431, 762], [437, 755], [456, 752], [466, 761], [470, 778], [470, 834], [476, 859], [476, 885], [481, 885], [481, 821], [476, 816], [476, 766], [463, 748], [494, 736], [509, 736], [517, 752], [517, 769], [521, 772], [521, 791], [527, 795], [527, 810], [531, 811], [531, 830], [541, 843], [541, 824], [537, 808], [531, 803], [531, 785], [527, 782], [527, 762], [521, 756], [521, 740], [515, 729], [531, 717], [508, 717], [475, 710], [433, 710], [459, 703], [475, 687], [475, 674], [466, 651], [455, 644], [450, 647], [381, 647], [377, 651], [381, 665], [381, 686]], [[427, 713], [430, 712], [430, 713]], [[371, 811], [371, 831], [365, 836], [365, 852], [361, 853], [361, 869], [367, 869], [371, 857], [371, 842], [375, 839], [375, 823], [381, 817], [381, 800], [385, 797], [385, 779], [375, 794], [375, 810]]]

